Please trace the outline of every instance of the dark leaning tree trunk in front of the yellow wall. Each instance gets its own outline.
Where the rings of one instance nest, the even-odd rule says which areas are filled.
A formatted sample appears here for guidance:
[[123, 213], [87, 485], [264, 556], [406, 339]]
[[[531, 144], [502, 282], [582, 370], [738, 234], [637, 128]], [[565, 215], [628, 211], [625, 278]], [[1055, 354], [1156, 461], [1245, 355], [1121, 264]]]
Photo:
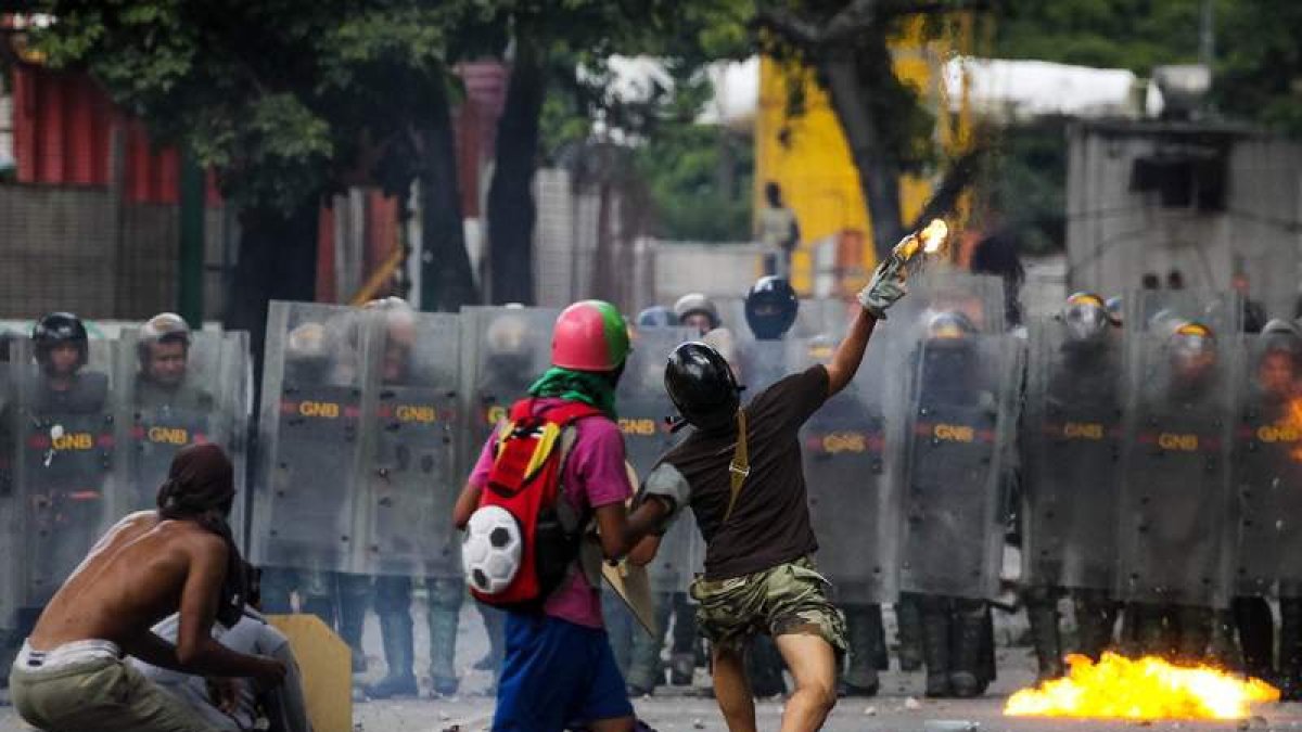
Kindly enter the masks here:
[[[892, 73], [891, 51], [881, 31], [870, 30], [867, 34], [871, 44], [868, 52], [884, 64], [884, 73]], [[836, 119], [850, 146], [854, 168], [859, 173], [859, 189], [872, 227], [872, 246], [880, 260], [904, 236], [904, 214], [900, 208], [898, 158], [881, 141], [881, 125], [874, 119], [868, 102], [874, 92], [872, 82], [859, 73], [861, 68], [872, 63], [874, 60], [857, 61], [852, 51], [838, 49], [832, 51], [819, 66]]]

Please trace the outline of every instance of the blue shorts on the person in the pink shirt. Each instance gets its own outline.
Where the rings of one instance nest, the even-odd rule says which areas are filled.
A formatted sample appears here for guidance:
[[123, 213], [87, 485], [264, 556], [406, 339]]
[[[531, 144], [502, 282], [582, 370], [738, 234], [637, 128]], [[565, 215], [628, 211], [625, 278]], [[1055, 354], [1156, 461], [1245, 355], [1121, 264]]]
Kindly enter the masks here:
[[605, 630], [547, 615], [506, 613], [506, 658], [497, 681], [497, 732], [561, 732], [633, 716]]

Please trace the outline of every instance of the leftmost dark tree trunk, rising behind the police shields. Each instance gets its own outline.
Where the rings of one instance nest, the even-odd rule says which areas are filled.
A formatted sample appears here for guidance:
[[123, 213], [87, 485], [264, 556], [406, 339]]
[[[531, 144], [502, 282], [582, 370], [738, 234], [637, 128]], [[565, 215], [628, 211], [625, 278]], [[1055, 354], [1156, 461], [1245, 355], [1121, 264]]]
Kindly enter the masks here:
[[311, 302], [316, 297], [316, 229], [320, 201], [293, 214], [246, 208], [240, 212], [240, 262], [227, 297], [225, 327], [247, 331], [254, 374], [262, 383], [267, 307], [272, 300]]

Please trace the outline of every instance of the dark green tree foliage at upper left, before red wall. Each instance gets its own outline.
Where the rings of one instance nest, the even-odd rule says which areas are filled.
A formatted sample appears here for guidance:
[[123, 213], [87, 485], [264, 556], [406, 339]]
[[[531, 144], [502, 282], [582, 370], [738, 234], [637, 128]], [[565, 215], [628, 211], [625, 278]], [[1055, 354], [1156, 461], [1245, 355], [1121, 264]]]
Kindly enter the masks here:
[[414, 0], [40, 9], [57, 18], [35, 39], [52, 66], [86, 68], [155, 139], [215, 169], [238, 206], [286, 212], [374, 172], [421, 95], [447, 83], [445, 29], [469, 13]]

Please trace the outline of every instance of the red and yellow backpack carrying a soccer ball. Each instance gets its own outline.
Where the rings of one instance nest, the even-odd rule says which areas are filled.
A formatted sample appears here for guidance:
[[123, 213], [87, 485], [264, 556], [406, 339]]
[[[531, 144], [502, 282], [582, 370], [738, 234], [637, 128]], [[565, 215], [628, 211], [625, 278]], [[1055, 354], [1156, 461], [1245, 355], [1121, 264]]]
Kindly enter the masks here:
[[479, 602], [536, 611], [569, 576], [589, 517], [575, 514], [564, 498], [561, 474], [577, 436], [574, 423], [599, 415], [602, 410], [577, 401], [539, 408], [535, 399], [522, 399], [512, 405], [497, 432], [479, 509], [500, 507], [514, 517], [521, 561], [510, 584], [496, 593], [471, 582], [470, 594]]

